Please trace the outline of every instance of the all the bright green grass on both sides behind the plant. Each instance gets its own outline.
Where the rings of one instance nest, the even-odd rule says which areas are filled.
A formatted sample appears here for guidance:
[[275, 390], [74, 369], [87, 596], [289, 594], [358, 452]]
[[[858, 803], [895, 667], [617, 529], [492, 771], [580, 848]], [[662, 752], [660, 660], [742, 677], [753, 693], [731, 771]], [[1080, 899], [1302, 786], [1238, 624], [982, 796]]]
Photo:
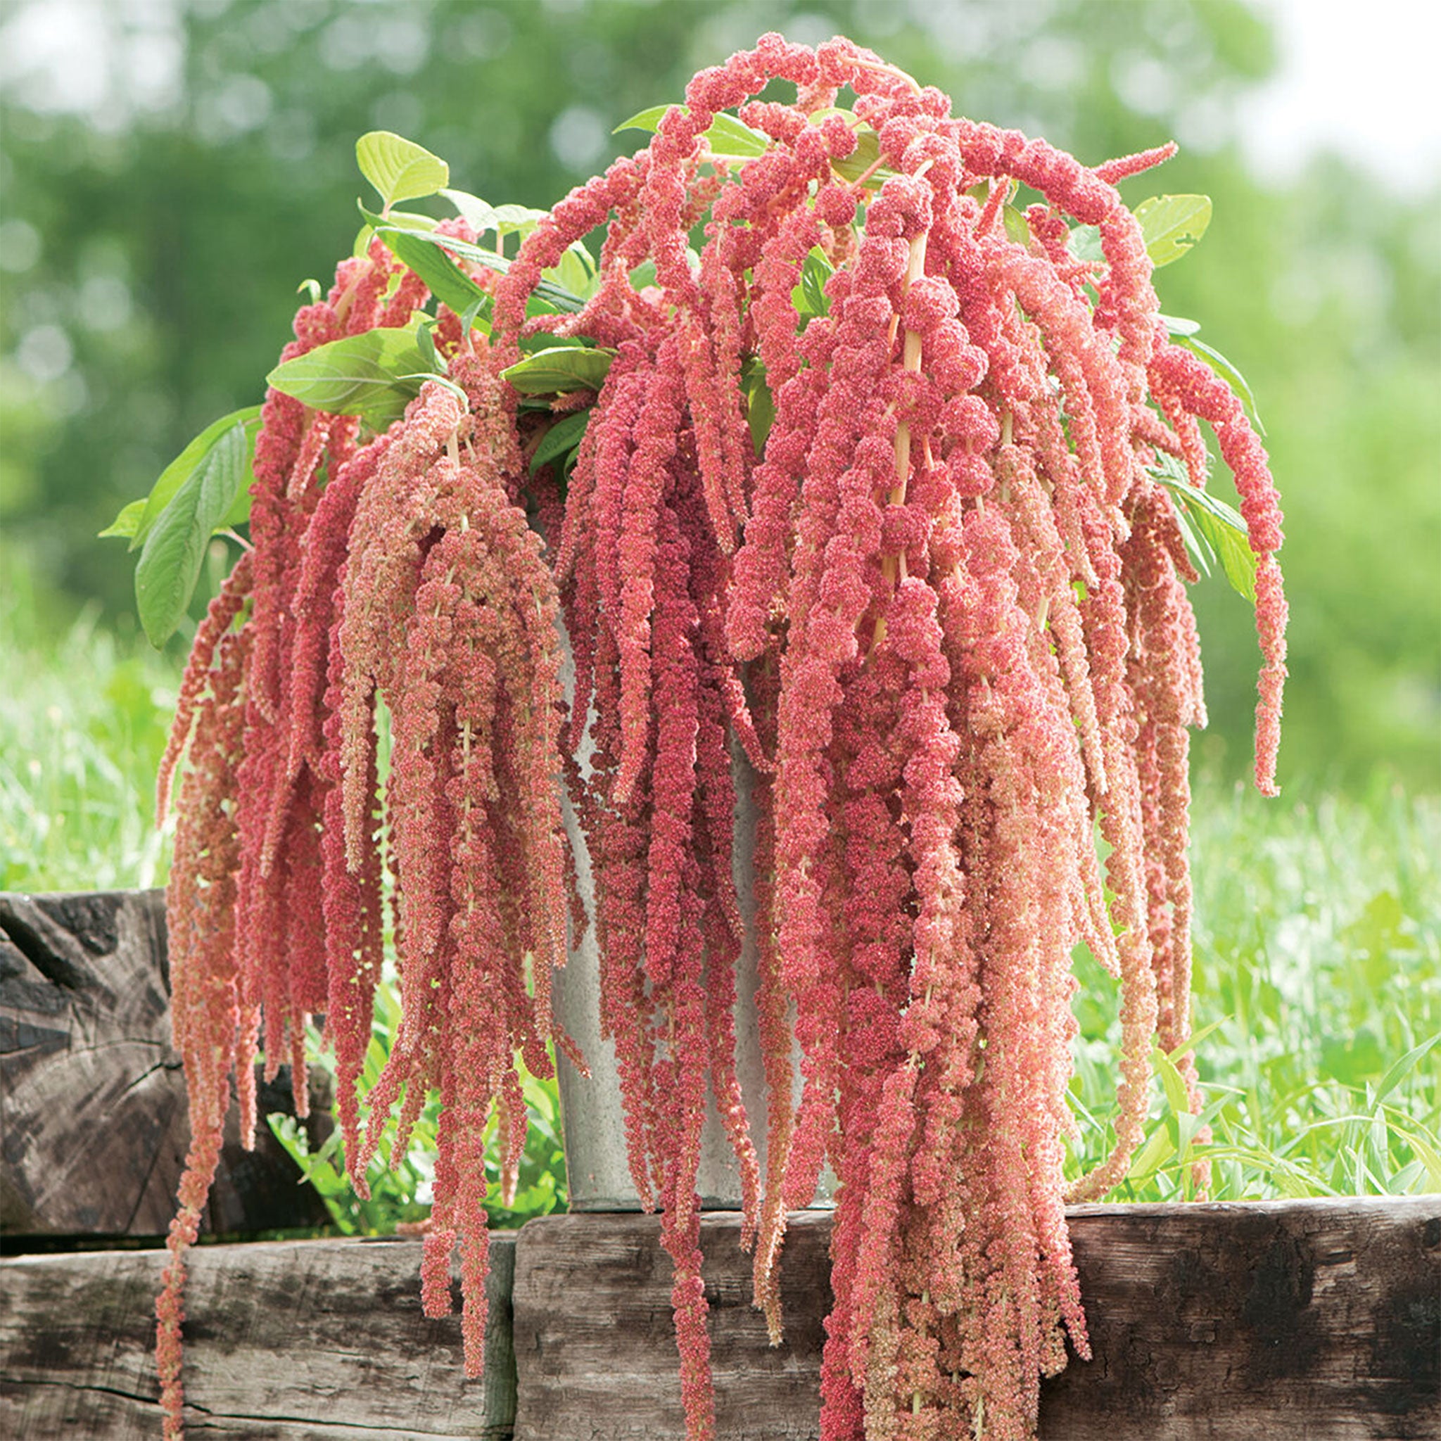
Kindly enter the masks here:
[[[19, 574], [0, 595], [0, 889], [163, 883], [154, 768], [179, 669], [94, 617], [46, 630], [36, 611]], [[1441, 1190], [1441, 797], [1378, 784], [1264, 801], [1202, 781], [1193, 813], [1210, 1195]], [[1088, 960], [1081, 981], [1074, 1164], [1104, 1151], [1115, 1076], [1114, 983]], [[380, 1056], [386, 1040], [382, 1020]], [[1154, 1088], [1147, 1140], [1112, 1199], [1190, 1195], [1196, 1123], [1164, 1058], [1160, 1069], [1172, 1085]], [[539, 1213], [563, 1203], [563, 1172], [553, 1087], [530, 1099], [522, 1209]], [[331, 1153], [310, 1160], [339, 1226], [386, 1229], [424, 1208], [424, 1153], [393, 1160], [370, 1209], [346, 1195]]]

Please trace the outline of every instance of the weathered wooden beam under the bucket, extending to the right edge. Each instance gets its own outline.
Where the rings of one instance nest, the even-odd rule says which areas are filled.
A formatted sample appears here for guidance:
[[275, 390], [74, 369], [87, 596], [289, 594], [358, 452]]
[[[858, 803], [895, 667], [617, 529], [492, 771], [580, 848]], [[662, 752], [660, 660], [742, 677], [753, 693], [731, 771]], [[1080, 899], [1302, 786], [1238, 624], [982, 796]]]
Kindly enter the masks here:
[[[829, 1231], [793, 1218], [771, 1350], [739, 1219], [703, 1222], [726, 1441], [818, 1434]], [[1043, 1385], [1042, 1441], [1441, 1435], [1441, 1197], [1085, 1206], [1071, 1233], [1095, 1359]], [[516, 1441], [679, 1441], [669, 1288], [653, 1216], [530, 1222]]]

